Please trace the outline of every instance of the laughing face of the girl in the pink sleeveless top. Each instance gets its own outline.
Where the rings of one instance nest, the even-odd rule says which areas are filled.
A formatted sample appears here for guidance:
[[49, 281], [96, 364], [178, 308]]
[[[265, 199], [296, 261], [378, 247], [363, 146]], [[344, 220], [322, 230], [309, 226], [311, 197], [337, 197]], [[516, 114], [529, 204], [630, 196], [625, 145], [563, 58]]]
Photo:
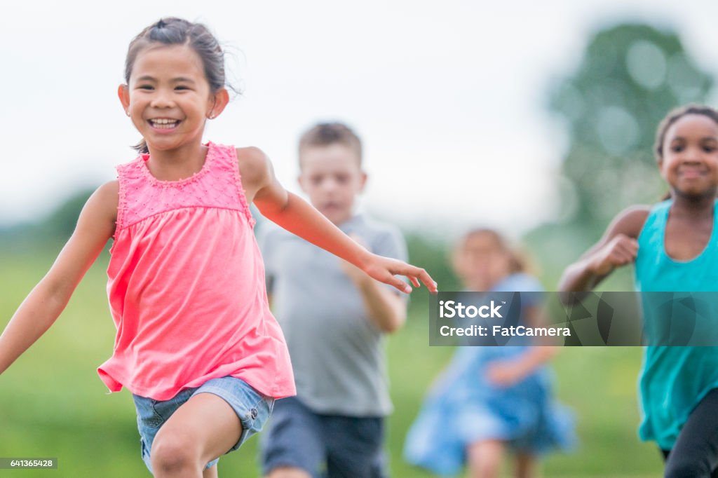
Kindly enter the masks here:
[[129, 85], [118, 94], [149, 148], [161, 151], [201, 142], [205, 121], [226, 104], [210, 92], [202, 59], [185, 44], [151, 44], [139, 52]]

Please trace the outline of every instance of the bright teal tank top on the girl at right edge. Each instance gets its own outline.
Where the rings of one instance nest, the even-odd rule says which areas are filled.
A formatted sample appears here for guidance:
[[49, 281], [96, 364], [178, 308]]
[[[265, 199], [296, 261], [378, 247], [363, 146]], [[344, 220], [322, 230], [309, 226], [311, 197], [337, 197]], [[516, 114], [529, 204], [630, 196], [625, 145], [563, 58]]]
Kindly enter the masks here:
[[[706, 248], [691, 261], [674, 261], [666, 254], [664, 237], [672, 201], [651, 208], [638, 236], [635, 288], [644, 292], [718, 291], [718, 207]], [[643, 297], [646, 329], [660, 328], [655, 310]], [[718, 294], [717, 294], [718, 297]], [[710, 305], [717, 318], [718, 301]], [[713, 313], [715, 311], [715, 313]], [[673, 448], [691, 411], [713, 388], [718, 388], [718, 347], [644, 347], [638, 383], [642, 422], [638, 434], [664, 450]]]

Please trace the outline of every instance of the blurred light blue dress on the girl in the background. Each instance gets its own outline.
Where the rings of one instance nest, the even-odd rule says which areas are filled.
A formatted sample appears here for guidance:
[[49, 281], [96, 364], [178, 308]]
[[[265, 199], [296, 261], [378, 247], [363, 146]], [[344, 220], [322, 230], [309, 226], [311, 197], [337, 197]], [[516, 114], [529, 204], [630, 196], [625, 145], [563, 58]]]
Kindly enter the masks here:
[[[513, 274], [493, 291], [541, 291], [541, 285], [526, 274]], [[458, 347], [409, 428], [404, 459], [437, 474], [457, 474], [467, 446], [477, 441], [507, 441], [529, 454], [572, 446], [573, 415], [551, 398], [548, 367], [510, 387], [497, 387], [486, 378], [490, 362], [518, 357], [526, 348]]]

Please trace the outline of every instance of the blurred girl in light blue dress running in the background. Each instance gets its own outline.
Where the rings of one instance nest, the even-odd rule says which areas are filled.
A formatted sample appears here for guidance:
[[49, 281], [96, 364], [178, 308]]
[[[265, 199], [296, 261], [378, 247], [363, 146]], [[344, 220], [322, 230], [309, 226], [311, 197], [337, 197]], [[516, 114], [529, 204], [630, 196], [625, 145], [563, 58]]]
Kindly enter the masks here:
[[[498, 233], [467, 233], [454, 251], [454, 271], [467, 291], [541, 291]], [[538, 322], [537, 294], [523, 294], [519, 324]], [[526, 337], [529, 339], [530, 337]], [[554, 347], [458, 347], [409, 429], [404, 456], [437, 474], [498, 476], [507, 449], [516, 477], [533, 476], [536, 456], [574, 441], [571, 414], [551, 398], [544, 365]]]

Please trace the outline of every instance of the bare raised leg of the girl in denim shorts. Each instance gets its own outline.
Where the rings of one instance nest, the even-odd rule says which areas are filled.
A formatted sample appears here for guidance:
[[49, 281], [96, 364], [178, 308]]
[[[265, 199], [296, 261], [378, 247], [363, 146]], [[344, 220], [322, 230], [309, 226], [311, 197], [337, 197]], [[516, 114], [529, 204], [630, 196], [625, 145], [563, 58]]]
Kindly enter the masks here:
[[241, 434], [239, 417], [225, 400], [197, 393], [157, 432], [150, 451], [154, 476], [200, 478], [208, 461], [235, 446]]

